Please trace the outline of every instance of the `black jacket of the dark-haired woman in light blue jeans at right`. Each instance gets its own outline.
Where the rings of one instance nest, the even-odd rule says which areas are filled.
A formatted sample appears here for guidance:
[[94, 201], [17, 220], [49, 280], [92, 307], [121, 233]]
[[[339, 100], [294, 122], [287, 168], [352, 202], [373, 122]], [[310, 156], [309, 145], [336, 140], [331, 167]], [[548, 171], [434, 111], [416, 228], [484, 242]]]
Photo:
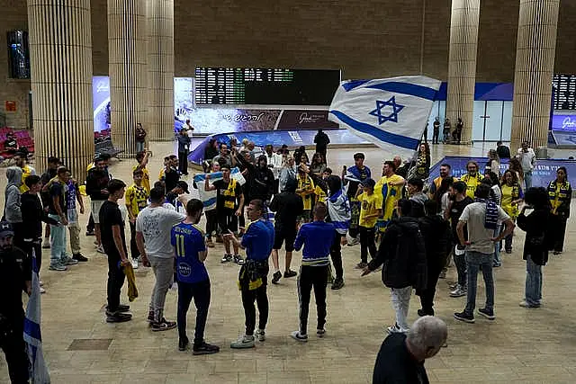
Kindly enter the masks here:
[[548, 263], [548, 250], [554, 245], [554, 237], [549, 235], [550, 210], [535, 210], [528, 216], [521, 212], [517, 219], [520, 229], [526, 232], [524, 240], [523, 259], [530, 256], [532, 261], [538, 265]]

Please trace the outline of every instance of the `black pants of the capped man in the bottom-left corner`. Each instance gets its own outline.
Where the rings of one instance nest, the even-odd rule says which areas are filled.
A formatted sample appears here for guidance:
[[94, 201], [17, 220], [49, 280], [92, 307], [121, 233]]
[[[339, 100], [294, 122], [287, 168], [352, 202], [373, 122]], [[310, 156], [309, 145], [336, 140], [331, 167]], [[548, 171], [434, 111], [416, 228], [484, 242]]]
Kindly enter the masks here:
[[[8, 323], [8, 322], [7, 322]], [[4, 351], [10, 381], [13, 384], [28, 383], [28, 353], [23, 338], [24, 318], [9, 321], [18, 326], [8, 324], [0, 328], [0, 348]], [[20, 326], [22, 325], [22, 326]]]

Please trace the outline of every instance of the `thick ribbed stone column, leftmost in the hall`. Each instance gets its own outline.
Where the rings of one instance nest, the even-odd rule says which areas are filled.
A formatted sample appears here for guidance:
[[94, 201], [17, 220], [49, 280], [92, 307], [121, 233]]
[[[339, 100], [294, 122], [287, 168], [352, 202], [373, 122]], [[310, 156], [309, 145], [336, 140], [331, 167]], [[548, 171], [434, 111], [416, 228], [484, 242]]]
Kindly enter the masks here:
[[28, 0], [36, 168], [58, 156], [83, 183], [94, 157], [90, 0]]

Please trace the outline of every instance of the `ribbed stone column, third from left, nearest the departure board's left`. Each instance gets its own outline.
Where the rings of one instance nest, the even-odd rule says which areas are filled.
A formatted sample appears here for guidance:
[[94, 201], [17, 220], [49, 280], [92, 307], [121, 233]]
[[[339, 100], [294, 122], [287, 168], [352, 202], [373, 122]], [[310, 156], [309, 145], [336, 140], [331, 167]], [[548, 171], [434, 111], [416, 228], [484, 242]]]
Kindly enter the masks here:
[[148, 0], [148, 131], [174, 139], [174, 0]]

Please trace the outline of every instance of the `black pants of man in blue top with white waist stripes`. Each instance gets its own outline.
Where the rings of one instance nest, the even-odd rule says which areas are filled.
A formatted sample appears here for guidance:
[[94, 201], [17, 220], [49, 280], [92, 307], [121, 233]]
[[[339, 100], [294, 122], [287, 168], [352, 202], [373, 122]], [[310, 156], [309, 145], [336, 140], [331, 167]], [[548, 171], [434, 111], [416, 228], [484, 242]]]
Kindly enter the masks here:
[[314, 288], [318, 323], [316, 329], [324, 329], [326, 324], [326, 284], [328, 284], [328, 265], [302, 265], [298, 276], [298, 300], [300, 302], [300, 333], [308, 331], [308, 310], [311, 291]]

